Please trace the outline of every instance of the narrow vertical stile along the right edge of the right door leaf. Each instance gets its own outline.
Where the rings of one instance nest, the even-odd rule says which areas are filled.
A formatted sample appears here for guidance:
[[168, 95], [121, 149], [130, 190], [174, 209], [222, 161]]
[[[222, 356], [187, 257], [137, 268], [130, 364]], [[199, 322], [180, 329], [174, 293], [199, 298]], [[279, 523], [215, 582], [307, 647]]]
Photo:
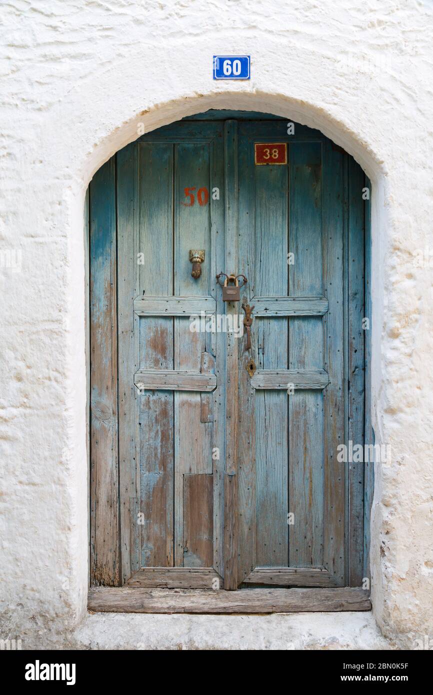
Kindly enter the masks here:
[[345, 464], [337, 461], [344, 443], [344, 325], [343, 325], [343, 157], [327, 140], [323, 143], [324, 316], [325, 369], [330, 383], [324, 391], [324, 565], [336, 584], [345, 583]]

